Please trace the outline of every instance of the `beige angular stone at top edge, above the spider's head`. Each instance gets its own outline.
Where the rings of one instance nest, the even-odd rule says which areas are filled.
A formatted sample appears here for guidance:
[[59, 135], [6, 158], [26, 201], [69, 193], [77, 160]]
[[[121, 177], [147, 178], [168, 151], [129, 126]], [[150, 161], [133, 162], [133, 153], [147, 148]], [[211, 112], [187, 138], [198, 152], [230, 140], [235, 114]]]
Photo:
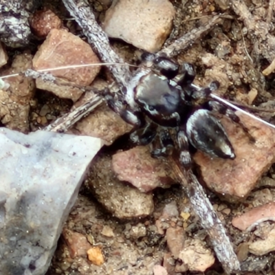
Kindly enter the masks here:
[[113, 38], [154, 53], [170, 34], [174, 17], [175, 8], [168, 0], [113, 1], [102, 28]]

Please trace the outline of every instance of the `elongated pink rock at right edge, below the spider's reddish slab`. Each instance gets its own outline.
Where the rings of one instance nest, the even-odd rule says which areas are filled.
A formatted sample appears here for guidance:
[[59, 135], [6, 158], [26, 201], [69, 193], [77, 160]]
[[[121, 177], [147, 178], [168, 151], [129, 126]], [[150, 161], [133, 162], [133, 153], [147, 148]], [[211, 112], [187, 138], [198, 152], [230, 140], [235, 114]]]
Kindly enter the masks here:
[[232, 219], [232, 225], [239, 230], [247, 230], [254, 223], [275, 220], [275, 203], [267, 203]]

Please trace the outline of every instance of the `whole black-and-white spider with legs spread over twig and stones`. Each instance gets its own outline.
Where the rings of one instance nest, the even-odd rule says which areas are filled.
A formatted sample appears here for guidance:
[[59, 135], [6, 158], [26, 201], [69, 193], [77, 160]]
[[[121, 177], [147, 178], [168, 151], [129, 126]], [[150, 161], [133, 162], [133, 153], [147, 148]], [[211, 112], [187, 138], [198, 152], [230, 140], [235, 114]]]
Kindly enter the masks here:
[[[152, 56], [146, 55], [150, 70], [139, 78], [131, 91], [125, 91], [124, 98], [128, 101], [123, 96], [116, 100], [107, 96], [109, 106], [135, 126], [131, 139], [137, 144], [148, 144], [158, 137], [159, 145], [152, 155], [166, 155], [166, 148], [173, 145], [170, 127], [177, 130], [180, 161], [184, 166], [191, 164], [189, 144], [212, 157], [234, 159], [232, 145], [214, 111], [227, 115], [234, 122], [239, 122], [239, 118], [219, 102], [209, 100], [219, 83], [198, 89], [192, 85], [195, 78], [192, 65], [178, 65], [169, 58]], [[150, 118], [149, 122], [144, 114]], [[163, 126], [160, 131], [157, 131], [158, 126]]]

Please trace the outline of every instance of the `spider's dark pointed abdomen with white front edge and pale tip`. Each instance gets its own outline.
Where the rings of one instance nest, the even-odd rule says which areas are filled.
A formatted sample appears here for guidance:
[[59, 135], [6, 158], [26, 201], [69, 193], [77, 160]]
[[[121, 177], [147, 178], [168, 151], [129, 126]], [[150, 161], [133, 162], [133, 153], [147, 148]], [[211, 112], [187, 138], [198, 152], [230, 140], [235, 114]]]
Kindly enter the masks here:
[[212, 157], [234, 159], [234, 149], [221, 122], [211, 111], [198, 109], [186, 123], [186, 133], [189, 142], [195, 148]]

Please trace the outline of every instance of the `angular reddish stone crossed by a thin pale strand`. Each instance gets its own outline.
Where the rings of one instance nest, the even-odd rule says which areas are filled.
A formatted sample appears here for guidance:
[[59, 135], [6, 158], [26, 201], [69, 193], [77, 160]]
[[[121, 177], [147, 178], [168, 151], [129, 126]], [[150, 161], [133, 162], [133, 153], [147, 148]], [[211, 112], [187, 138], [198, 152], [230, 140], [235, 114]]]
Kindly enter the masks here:
[[52, 75], [82, 86], [91, 84], [100, 71], [100, 66], [50, 70], [67, 65], [100, 62], [89, 44], [66, 30], [51, 30], [32, 62], [36, 70], [49, 69]]

